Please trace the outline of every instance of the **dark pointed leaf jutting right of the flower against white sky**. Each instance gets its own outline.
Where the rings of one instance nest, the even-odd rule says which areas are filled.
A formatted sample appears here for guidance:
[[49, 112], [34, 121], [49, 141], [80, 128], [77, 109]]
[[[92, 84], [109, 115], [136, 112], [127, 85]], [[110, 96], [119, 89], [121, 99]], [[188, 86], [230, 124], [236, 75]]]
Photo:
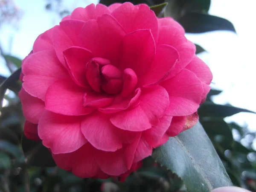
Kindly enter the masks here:
[[198, 109], [199, 117], [226, 117], [239, 112], [255, 113], [247, 109], [236, 108], [229, 105], [218, 105], [212, 102], [204, 102]]

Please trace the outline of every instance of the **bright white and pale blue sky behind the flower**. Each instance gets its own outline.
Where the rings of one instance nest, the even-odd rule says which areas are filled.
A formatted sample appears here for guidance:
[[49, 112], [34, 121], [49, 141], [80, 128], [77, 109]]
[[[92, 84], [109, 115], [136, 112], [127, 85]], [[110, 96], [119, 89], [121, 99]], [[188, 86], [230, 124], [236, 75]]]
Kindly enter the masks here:
[[[46, 0], [14, 0], [23, 10], [23, 17], [16, 31], [9, 26], [0, 30], [0, 42], [5, 52], [24, 58], [32, 49], [33, 42], [42, 32], [58, 24], [60, 18], [45, 9]], [[97, 0], [64, 0], [70, 10], [78, 6], [85, 7]], [[212, 70], [214, 87], [224, 90], [214, 101], [220, 104], [230, 103], [236, 107], [256, 111], [255, 71], [255, 0], [212, 0], [209, 14], [230, 20], [237, 34], [232, 32], [208, 32], [188, 34], [187, 38], [208, 51], [201, 58]], [[10, 41], [12, 40], [12, 47]], [[9, 76], [9, 71], [0, 61], [0, 74]], [[228, 117], [240, 125], [247, 123], [250, 130], [256, 131], [256, 115], [239, 113]]]

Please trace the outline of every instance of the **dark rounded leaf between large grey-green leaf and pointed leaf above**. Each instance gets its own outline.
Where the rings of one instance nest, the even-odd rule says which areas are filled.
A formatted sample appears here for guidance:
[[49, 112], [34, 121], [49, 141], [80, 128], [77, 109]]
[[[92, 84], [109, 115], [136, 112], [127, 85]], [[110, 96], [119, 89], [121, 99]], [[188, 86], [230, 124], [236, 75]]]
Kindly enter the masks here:
[[221, 143], [221, 147], [224, 148], [224, 150], [232, 148], [234, 142], [233, 134], [231, 128], [223, 119], [201, 120], [200, 122], [211, 140]]

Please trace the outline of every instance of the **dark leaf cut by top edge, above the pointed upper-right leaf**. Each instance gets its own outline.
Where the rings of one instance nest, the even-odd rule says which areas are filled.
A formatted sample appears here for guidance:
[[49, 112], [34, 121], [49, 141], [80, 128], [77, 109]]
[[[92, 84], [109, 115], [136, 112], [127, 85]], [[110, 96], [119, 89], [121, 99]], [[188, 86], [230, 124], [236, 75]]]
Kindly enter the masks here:
[[207, 13], [210, 8], [211, 0], [166, 0], [164, 15], [178, 20], [183, 15], [191, 12]]

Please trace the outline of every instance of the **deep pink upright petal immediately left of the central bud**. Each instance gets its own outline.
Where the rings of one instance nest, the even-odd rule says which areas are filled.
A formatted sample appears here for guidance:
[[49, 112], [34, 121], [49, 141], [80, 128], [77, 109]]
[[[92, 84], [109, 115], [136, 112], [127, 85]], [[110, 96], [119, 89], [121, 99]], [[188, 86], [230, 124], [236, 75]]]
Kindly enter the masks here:
[[93, 58], [92, 52], [81, 47], [70, 47], [63, 52], [63, 55], [72, 79], [76, 84], [88, 87], [86, 65]]

